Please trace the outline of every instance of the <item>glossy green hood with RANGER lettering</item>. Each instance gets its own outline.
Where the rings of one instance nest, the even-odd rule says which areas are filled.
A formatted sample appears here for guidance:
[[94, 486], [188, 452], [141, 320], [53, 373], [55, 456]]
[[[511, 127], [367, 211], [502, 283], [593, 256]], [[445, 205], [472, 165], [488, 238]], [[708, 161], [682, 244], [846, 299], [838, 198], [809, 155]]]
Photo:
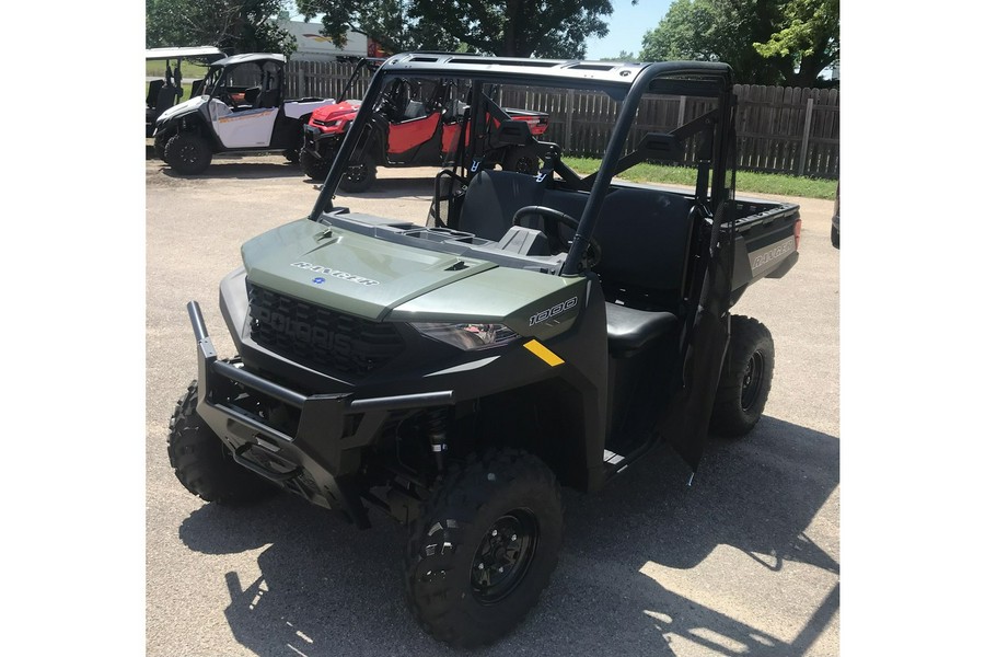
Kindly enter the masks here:
[[536, 316], [584, 302], [583, 277], [500, 267], [308, 219], [254, 238], [242, 251], [254, 284], [372, 321], [501, 322], [548, 337], [569, 327], [577, 311], [551, 322]]

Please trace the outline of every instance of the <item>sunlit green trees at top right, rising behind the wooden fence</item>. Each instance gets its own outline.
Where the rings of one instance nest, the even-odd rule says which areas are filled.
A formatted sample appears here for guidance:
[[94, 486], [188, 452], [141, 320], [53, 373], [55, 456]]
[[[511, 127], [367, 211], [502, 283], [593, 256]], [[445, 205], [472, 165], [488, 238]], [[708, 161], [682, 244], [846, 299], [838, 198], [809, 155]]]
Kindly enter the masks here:
[[726, 61], [744, 84], [812, 87], [837, 60], [838, 24], [837, 0], [676, 0], [640, 58]]

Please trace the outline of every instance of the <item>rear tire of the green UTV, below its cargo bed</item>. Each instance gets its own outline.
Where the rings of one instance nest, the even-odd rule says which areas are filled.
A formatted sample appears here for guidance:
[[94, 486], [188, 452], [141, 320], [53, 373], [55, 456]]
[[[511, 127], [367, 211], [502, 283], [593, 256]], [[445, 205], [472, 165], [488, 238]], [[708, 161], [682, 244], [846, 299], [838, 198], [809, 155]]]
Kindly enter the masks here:
[[749, 434], [763, 416], [773, 384], [775, 351], [773, 336], [762, 323], [742, 315], [733, 316], [731, 322], [732, 335], [715, 394], [710, 430], [740, 437]]

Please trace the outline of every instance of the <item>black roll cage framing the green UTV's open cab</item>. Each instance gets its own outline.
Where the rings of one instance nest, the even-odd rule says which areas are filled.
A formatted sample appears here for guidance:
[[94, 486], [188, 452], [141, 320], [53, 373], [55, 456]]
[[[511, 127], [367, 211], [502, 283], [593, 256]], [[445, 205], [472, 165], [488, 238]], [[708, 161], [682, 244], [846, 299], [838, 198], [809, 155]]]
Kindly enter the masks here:
[[[485, 125], [488, 115], [487, 112], [480, 112], [477, 108], [490, 106], [489, 96], [491, 94], [487, 92], [494, 91], [497, 85], [543, 84], [572, 90], [601, 91], [621, 103], [612, 136], [596, 172], [581, 177], [564, 165], [559, 158], [552, 158], [551, 165], [560, 174], [566, 185], [589, 192], [584, 210], [580, 218], [577, 218], [578, 230], [561, 268], [563, 276], [578, 275], [581, 272], [586, 251], [590, 246], [592, 233], [599, 221], [602, 201], [612, 185], [613, 177], [639, 161], [674, 159], [675, 151], [681, 148], [682, 140], [687, 136], [704, 131], [707, 137], [703, 140], [704, 152], [698, 163], [695, 187], [696, 205], [705, 207], [706, 211], [703, 214], [710, 219], [711, 214], [723, 207], [722, 203], [730, 196], [727, 172], [729, 170], [730, 140], [733, 136], [730, 129], [722, 129], [721, 126], [731, 125], [734, 100], [732, 69], [726, 64], [705, 61], [587, 62], [409, 53], [391, 57], [373, 76], [366, 94], [368, 102], [362, 104], [348, 130], [339, 154], [309, 217], [311, 220], [317, 221], [323, 212], [333, 209], [333, 196], [345, 171], [344, 164], [357, 148], [359, 135], [372, 119], [375, 99], [394, 78], [408, 76], [460, 78], [471, 82], [470, 105], [472, 111], [466, 116], [467, 130], [478, 138], [463, 143], [465, 157], [459, 159], [457, 175], [466, 184], [482, 170], [483, 153], [489, 148], [488, 140], [483, 138], [489, 131], [489, 126]], [[708, 97], [717, 101], [717, 107], [675, 130], [648, 134], [639, 143], [629, 147], [627, 140], [640, 101], [645, 94], [654, 93]], [[515, 127], [514, 125], [500, 125], [500, 132], [508, 132]], [[505, 138], [522, 140], [523, 135], [522, 132], [519, 137], [507, 135]], [[707, 192], [709, 183], [710, 196]], [[707, 209], [708, 206], [710, 209]]]

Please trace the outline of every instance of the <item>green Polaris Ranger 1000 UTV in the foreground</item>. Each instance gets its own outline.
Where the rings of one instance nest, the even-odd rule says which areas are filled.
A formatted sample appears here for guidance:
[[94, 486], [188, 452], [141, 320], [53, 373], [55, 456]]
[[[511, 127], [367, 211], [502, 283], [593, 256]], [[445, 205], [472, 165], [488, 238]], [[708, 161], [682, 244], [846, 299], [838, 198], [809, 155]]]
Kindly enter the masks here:
[[[333, 203], [394, 77], [467, 99], [449, 112], [463, 164], [437, 174], [420, 223]], [[236, 356], [188, 303], [198, 377], [167, 445], [181, 483], [217, 503], [280, 487], [359, 527], [382, 510], [409, 528], [406, 598], [428, 633], [475, 646], [510, 632], [557, 564], [560, 486], [599, 491], [661, 443], [696, 469], [709, 429], [740, 436], [763, 413], [773, 339], [729, 309], [793, 266], [800, 218], [734, 198], [732, 85], [718, 62], [391, 57], [311, 215], [246, 242], [222, 280]], [[486, 111], [565, 96], [618, 108], [588, 176]], [[552, 114], [545, 139], [575, 149], [590, 131]], [[503, 145], [543, 168], [489, 164]], [[652, 161], [693, 166], [694, 187], [619, 177]]]

